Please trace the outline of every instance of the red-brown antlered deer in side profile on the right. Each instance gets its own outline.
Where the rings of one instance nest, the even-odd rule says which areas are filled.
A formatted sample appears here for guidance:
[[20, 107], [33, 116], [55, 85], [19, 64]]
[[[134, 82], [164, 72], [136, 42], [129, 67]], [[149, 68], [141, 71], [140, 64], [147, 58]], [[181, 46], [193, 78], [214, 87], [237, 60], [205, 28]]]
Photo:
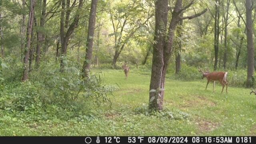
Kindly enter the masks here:
[[213, 92], [214, 92], [215, 81], [218, 80], [220, 82], [220, 84], [222, 85], [221, 93], [223, 92], [225, 85], [226, 85], [226, 93], [228, 92], [228, 82], [227, 82], [228, 72], [209, 72], [209, 70], [204, 72], [201, 70], [200, 67], [199, 67], [198, 71], [202, 72], [202, 74], [203, 74], [202, 79], [207, 78], [207, 84], [206, 84], [205, 90], [207, 89], [209, 82], [213, 81]]

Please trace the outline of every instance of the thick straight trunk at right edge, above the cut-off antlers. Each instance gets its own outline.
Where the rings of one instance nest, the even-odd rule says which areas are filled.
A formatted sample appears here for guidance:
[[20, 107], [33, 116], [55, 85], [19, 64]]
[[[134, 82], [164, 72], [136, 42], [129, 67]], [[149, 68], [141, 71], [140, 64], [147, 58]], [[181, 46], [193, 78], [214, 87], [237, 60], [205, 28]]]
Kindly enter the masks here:
[[246, 86], [254, 84], [254, 46], [253, 46], [253, 24], [252, 24], [252, 0], [245, 1], [246, 6], [246, 36], [247, 36], [247, 80]]

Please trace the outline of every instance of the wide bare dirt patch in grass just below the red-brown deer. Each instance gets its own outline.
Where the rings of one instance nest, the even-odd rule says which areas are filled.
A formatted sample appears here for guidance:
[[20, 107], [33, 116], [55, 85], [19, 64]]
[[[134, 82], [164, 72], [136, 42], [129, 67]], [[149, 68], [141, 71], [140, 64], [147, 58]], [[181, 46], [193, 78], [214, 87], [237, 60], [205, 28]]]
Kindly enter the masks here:
[[196, 96], [189, 100], [183, 100], [183, 104], [180, 106], [180, 108], [216, 106], [216, 104], [217, 102], [213, 102], [205, 97]]

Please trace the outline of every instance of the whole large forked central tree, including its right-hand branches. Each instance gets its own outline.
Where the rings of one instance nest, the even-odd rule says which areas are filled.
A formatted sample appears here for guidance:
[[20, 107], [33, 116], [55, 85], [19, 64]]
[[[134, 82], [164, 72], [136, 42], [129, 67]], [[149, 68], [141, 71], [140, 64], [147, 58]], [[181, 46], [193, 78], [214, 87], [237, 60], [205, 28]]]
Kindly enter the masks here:
[[153, 46], [152, 70], [150, 80], [149, 92], [149, 106], [150, 110], [162, 110], [164, 98], [164, 84], [166, 70], [168, 68], [169, 59], [172, 54], [172, 45], [174, 32], [180, 20], [192, 19], [202, 15], [207, 9], [192, 16], [180, 16], [184, 10], [189, 8], [194, 1], [182, 7], [182, 0], [176, 0], [175, 6], [172, 10], [172, 18], [169, 23], [168, 31], [168, 0], [156, 0], [155, 2], [155, 44]]

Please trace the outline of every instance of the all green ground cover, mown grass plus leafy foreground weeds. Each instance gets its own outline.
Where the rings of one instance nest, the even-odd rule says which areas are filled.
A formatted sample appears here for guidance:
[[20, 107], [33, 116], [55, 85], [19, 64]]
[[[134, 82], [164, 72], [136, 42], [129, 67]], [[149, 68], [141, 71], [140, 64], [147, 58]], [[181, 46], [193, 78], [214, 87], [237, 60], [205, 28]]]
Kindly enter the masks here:
[[[94, 69], [93, 72], [100, 70]], [[0, 135], [118, 135], [118, 136], [256, 136], [256, 97], [245, 88], [228, 88], [221, 92], [212, 83], [205, 90], [206, 80], [181, 82], [166, 80], [162, 114], [146, 116], [143, 108], [148, 104], [149, 75], [132, 70], [126, 80], [122, 70], [102, 70], [106, 84], [119, 86], [114, 92], [112, 107], [100, 107], [88, 102], [88, 114], [70, 120], [49, 117], [31, 122], [25, 114], [8, 114], [0, 110]], [[142, 113], [136, 113], [142, 109]], [[174, 118], [168, 114], [171, 112]], [[187, 118], [175, 118], [179, 113]], [[167, 116], [166, 116], [167, 114]]]

